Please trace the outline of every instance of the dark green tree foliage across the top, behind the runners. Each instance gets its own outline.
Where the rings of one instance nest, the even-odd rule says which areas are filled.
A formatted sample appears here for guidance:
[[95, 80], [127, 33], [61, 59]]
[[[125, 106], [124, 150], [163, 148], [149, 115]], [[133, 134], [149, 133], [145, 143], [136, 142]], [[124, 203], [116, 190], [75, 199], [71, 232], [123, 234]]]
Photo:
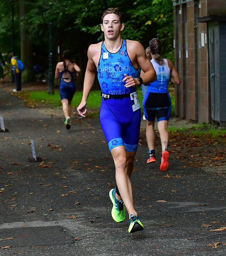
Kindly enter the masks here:
[[[102, 0], [26, 0], [26, 15], [19, 19], [18, 1], [14, 3], [16, 54], [20, 49], [20, 22], [32, 39], [33, 49], [48, 59], [49, 22], [54, 27], [54, 58], [57, 44], [79, 54], [80, 61], [87, 62], [90, 44], [104, 39], [100, 29], [103, 11]], [[173, 60], [173, 5], [171, 0], [108, 0], [108, 7], [119, 7], [123, 12], [125, 28], [123, 38], [138, 40], [146, 48], [150, 39], [162, 40], [163, 56]], [[0, 49], [11, 51], [11, 2], [0, 1]], [[83, 55], [83, 56], [82, 56]], [[78, 58], [77, 58], [78, 59]]]

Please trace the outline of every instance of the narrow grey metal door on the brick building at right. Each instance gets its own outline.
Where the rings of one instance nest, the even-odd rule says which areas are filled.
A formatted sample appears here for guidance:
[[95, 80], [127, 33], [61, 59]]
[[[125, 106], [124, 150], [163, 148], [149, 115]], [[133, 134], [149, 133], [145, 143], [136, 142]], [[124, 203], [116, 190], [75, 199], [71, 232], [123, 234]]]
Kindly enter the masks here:
[[209, 24], [209, 80], [211, 89], [211, 117], [215, 121], [220, 119], [219, 103], [219, 25]]

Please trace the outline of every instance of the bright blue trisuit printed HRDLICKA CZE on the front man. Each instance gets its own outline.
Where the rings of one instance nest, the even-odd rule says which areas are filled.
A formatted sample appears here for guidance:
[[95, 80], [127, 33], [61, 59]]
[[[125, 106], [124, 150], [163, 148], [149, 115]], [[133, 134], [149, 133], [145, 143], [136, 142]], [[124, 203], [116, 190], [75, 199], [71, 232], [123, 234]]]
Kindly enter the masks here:
[[[106, 136], [109, 150], [117, 146], [125, 146], [127, 151], [136, 151], [140, 131], [140, 107], [135, 87], [126, 88], [122, 80], [124, 74], [138, 76], [126, 50], [126, 40], [116, 53], [109, 52], [102, 43], [101, 56], [98, 63], [98, 80], [102, 93], [118, 95], [118, 98], [102, 98], [100, 121]], [[129, 97], [124, 97], [129, 96]], [[113, 97], [113, 96], [112, 96]], [[117, 96], [114, 96], [117, 97]]]

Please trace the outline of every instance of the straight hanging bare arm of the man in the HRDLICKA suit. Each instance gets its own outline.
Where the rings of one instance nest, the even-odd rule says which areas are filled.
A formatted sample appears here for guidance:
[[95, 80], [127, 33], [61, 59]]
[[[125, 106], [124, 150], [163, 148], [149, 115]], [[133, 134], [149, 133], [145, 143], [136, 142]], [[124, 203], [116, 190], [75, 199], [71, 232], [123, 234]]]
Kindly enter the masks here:
[[96, 65], [93, 61], [94, 53], [95, 53], [95, 45], [91, 44], [88, 49], [88, 63], [87, 63], [87, 68], [86, 68], [86, 73], [84, 78], [82, 100], [77, 108], [79, 115], [83, 117], [85, 117], [84, 114], [86, 114], [86, 111], [87, 111], [86, 109], [87, 98], [94, 84], [94, 80], [97, 72]]

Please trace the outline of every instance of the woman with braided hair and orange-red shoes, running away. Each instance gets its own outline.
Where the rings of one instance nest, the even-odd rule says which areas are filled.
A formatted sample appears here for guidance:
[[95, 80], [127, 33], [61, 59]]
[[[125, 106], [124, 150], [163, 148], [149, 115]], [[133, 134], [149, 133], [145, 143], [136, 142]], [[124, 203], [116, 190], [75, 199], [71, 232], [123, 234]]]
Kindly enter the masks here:
[[[170, 60], [163, 59], [161, 56], [162, 43], [159, 39], [154, 38], [149, 42], [151, 52], [151, 63], [157, 74], [156, 81], [148, 84], [147, 93], [143, 100], [144, 114], [147, 120], [147, 145], [149, 157], [147, 163], [156, 162], [155, 158], [155, 133], [154, 119], [157, 116], [158, 130], [162, 144], [162, 161], [160, 170], [166, 171], [169, 167], [168, 142], [169, 133], [167, 132], [168, 121], [171, 112], [171, 99], [168, 93], [168, 84], [180, 84], [180, 78], [173, 63]], [[142, 72], [141, 72], [142, 75]]]

